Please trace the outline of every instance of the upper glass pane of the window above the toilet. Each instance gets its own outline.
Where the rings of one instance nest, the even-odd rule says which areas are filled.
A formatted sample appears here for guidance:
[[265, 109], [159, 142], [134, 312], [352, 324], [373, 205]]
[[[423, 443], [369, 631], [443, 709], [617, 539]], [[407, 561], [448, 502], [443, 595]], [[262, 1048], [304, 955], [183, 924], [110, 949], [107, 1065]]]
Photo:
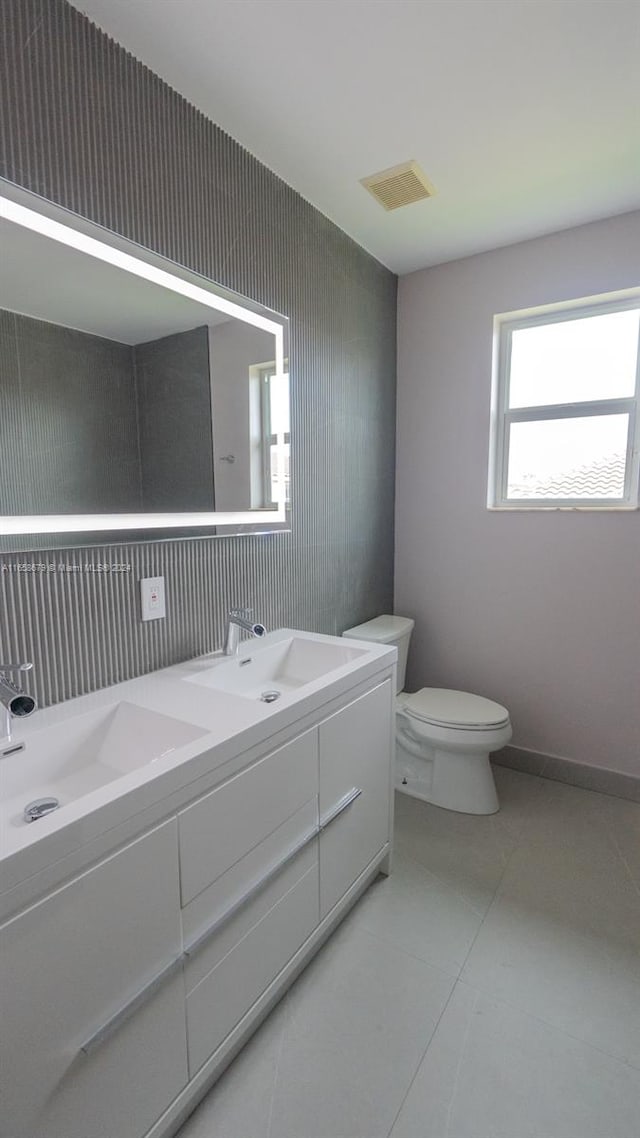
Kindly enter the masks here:
[[516, 329], [509, 406], [633, 396], [639, 322], [632, 310]]

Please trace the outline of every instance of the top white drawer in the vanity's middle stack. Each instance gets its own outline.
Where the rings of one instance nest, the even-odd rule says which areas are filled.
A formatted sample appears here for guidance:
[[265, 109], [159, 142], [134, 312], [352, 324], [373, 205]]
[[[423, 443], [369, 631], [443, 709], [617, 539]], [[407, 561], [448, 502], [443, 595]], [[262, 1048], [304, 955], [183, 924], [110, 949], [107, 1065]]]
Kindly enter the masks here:
[[318, 794], [318, 732], [309, 731], [179, 814], [187, 906]]

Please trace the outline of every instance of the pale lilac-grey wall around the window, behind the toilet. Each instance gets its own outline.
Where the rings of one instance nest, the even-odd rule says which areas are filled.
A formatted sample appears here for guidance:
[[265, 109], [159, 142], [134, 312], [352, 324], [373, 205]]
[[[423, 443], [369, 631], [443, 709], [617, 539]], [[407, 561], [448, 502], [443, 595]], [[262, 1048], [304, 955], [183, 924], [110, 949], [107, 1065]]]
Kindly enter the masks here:
[[486, 509], [493, 315], [638, 283], [640, 213], [400, 282], [396, 587], [410, 690], [504, 703], [514, 744], [640, 773], [640, 512]]

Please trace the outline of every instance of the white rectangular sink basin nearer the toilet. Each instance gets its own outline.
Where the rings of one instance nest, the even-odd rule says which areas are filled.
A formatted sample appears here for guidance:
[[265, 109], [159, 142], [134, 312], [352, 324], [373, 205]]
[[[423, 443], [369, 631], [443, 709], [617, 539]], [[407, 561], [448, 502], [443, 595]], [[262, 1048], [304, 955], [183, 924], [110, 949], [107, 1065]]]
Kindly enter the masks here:
[[366, 655], [367, 651], [366, 648], [302, 636], [289, 636], [269, 645], [254, 646], [247, 642], [237, 657], [223, 659], [213, 668], [187, 677], [187, 683], [277, 704], [280, 695], [298, 691]]

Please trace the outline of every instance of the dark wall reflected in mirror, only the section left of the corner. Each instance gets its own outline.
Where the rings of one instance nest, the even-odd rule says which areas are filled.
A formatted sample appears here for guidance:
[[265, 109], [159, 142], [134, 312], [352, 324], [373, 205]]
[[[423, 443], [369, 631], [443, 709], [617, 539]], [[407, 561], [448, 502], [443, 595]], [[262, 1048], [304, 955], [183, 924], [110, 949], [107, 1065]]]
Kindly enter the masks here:
[[140, 510], [131, 348], [6, 311], [0, 344], [0, 513]]

